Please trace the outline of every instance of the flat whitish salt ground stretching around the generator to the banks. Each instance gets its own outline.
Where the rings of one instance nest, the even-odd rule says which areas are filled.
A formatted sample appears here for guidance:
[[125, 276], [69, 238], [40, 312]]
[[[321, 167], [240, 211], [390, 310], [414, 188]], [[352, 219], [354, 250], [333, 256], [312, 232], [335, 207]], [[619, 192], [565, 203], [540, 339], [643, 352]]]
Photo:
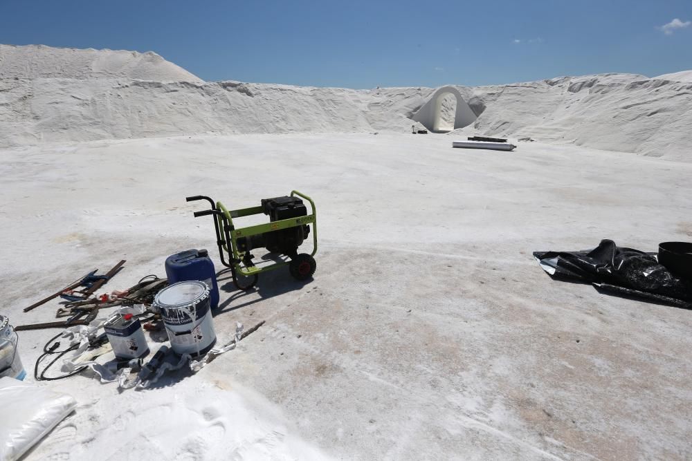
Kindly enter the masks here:
[[[80, 406], [28, 460], [689, 459], [689, 311], [552, 281], [531, 252], [689, 240], [690, 164], [540, 142], [467, 151], [452, 139], [0, 151], [0, 297], [15, 325], [51, 320], [55, 303], [21, 308], [89, 267], [127, 259], [110, 290], [163, 275], [174, 252], [213, 255], [211, 222], [192, 217], [186, 195], [245, 207], [299, 189], [318, 204], [313, 281], [278, 271], [242, 294], [220, 278], [221, 342], [236, 321], [264, 326], [162, 388], [119, 394], [88, 375], [43, 384]], [[25, 364], [53, 334], [21, 335]]]

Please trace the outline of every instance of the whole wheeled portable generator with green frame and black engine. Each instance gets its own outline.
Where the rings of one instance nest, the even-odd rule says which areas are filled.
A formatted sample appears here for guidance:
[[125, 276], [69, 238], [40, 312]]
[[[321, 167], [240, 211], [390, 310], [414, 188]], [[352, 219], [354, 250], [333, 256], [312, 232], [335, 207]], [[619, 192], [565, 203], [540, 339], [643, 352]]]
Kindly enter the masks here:
[[[310, 214], [302, 199], [310, 203]], [[194, 217], [213, 216], [221, 263], [230, 268], [233, 283], [239, 290], [249, 290], [255, 286], [262, 272], [284, 265], [289, 266], [289, 272], [298, 280], [309, 279], [315, 273], [317, 263], [313, 256], [317, 252], [317, 211], [315, 203], [308, 196], [291, 191], [290, 196], [263, 198], [258, 207], [232, 210], [207, 196], [192, 196], [185, 200], [207, 200], [210, 203], [211, 209], [195, 211]], [[269, 222], [249, 227], [233, 225], [233, 218], [255, 214], [266, 214]], [[309, 234], [313, 239], [312, 252], [298, 253], [298, 247]], [[265, 248], [270, 254], [287, 256], [289, 261], [278, 258], [272, 260], [273, 263], [255, 263], [251, 251], [258, 248]], [[251, 277], [252, 280], [242, 284], [239, 275]]]

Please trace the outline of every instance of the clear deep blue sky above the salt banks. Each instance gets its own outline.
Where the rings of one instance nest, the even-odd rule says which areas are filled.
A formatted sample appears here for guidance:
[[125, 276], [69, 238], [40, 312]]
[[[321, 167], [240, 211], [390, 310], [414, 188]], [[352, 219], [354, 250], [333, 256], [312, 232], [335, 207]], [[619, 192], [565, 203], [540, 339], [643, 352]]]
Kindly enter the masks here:
[[481, 85], [689, 70], [688, 21], [691, 0], [0, 0], [0, 43], [152, 50], [208, 81]]

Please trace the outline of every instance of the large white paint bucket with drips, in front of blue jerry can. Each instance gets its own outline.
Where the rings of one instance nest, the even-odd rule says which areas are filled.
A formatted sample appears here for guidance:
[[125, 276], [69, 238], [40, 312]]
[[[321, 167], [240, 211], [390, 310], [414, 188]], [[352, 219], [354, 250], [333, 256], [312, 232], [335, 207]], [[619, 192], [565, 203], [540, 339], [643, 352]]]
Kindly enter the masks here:
[[161, 310], [163, 326], [176, 354], [197, 357], [216, 344], [206, 283], [174, 283], [156, 294], [154, 304]]

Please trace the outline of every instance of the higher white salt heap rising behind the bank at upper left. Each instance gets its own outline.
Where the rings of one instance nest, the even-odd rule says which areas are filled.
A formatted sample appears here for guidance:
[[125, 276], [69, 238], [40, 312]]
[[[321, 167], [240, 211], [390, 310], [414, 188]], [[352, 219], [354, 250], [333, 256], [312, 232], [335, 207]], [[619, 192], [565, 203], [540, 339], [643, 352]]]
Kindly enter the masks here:
[[203, 80], [152, 53], [89, 48], [54, 48], [44, 45], [0, 45], [3, 78], [127, 78], [156, 82]]

